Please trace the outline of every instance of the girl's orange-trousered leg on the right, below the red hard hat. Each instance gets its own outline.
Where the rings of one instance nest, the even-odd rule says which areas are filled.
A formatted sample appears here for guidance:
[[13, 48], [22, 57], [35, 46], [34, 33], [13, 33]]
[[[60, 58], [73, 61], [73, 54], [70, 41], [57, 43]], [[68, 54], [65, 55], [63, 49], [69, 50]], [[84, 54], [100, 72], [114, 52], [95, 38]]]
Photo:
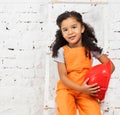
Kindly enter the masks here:
[[80, 115], [102, 115], [98, 101], [87, 94], [80, 94], [76, 100]]

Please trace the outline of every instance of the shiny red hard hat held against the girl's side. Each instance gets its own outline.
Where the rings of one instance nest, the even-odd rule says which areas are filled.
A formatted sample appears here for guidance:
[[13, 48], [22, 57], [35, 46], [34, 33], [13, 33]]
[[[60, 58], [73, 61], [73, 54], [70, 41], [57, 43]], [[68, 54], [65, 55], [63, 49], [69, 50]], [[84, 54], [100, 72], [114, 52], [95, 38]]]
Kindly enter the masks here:
[[111, 64], [110, 60], [104, 64], [93, 66], [87, 73], [86, 78], [89, 78], [88, 85], [97, 83], [100, 86], [100, 92], [97, 98], [103, 100], [108, 88], [109, 80], [111, 77]]

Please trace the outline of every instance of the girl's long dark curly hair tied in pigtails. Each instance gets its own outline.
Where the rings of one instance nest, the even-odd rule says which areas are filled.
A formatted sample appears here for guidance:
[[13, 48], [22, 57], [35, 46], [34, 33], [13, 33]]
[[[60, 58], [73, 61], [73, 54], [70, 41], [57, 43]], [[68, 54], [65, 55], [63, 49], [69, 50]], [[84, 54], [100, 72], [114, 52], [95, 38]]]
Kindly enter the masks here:
[[85, 31], [82, 33], [82, 46], [86, 48], [86, 56], [91, 58], [90, 51], [98, 51], [99, 53], [102, 52], [102, 48], [97, 46], [97, 39], [95, 36], [94, 29], [87, 23], [83, 22], [82, 15], [76, 11], [65, 11], [61, 15], [57, 17], [56, 23], [59, 29], [56, 31], [55, 41], [52, 43], [52, 57], [57, 57], [58, 49], [68, 42], [63, 38], [62, 31], [61, 31], [61, 23], [63, 20], [74, 17], [78, 22], [80, 22], [84, 27]]

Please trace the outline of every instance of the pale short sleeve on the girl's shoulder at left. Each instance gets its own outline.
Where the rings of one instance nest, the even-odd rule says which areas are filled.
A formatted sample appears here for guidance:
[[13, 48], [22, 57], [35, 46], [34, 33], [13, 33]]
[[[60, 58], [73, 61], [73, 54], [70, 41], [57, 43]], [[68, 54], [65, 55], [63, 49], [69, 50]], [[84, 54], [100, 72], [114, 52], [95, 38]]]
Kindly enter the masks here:
[[65, 60], [64, 60], [64, 50], [63, 50], [62, 47], [58, 50], [58, 56], [54, 58], [54, 61], [55, 62], [65, 63]]

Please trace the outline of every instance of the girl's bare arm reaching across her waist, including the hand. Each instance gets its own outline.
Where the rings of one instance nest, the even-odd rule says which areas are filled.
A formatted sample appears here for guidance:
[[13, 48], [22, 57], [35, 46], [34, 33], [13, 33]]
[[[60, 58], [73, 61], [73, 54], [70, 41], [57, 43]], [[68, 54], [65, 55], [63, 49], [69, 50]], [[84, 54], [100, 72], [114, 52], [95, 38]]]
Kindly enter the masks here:
[[67, 77], [67, 71], [66, 71], [66, 66], [64, 63], [58, 62], [58, 73], [60, 76], [60, 80], [62, 81], [62, 83], [66, 86], [68, 86], [71, 89], [80, 91], [80, 92], [84, 92], [87, 94], [90, 94], [92, 96], [96, 96], [96, 93], [99, 92], [99, 86], [97, 86], [97, 84], [92, 84], [92, 85], [87, 85], [87, 82], [89, 79], [86, 79], [85, 82], [80, 86], [78, 84], [76, 84], [75, 82], [71, 81], [68, 77]]

